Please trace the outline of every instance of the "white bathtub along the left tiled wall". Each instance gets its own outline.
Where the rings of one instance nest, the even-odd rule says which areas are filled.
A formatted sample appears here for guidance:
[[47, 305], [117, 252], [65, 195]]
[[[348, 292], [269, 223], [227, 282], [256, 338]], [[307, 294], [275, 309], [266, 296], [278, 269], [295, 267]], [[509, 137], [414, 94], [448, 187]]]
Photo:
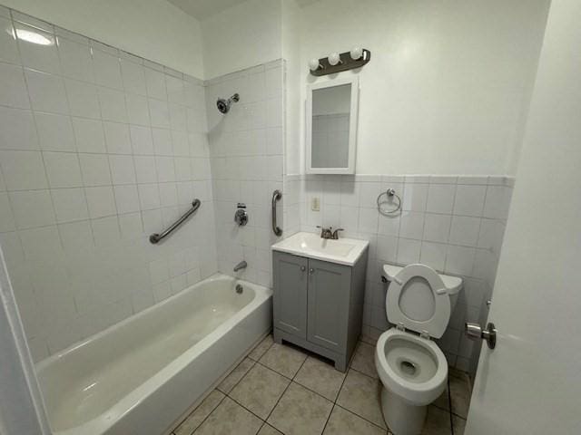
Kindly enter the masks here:
[[271, 295], [213, 275], [39, 362], [54, 434], [166, 432], [271, 330]]

